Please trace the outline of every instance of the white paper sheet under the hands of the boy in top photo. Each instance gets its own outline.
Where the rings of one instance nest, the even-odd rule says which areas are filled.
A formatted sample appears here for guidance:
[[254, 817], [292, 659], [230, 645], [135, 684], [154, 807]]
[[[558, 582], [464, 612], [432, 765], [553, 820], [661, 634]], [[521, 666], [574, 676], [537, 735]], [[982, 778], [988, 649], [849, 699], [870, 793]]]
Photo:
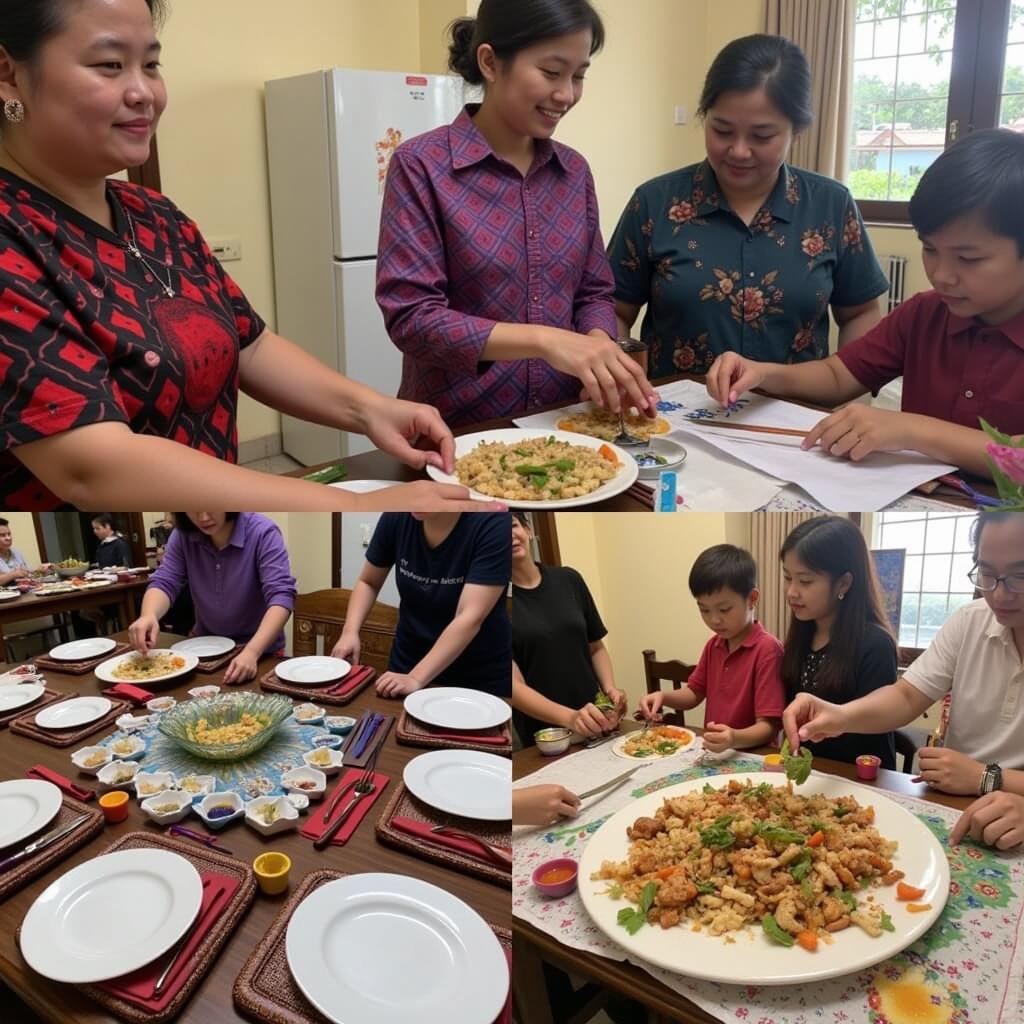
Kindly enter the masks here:
[[[721, 417], [722, 409], [696, 381], [677, 381], [658, 388], [660, 415], [673, 426], [672, 433], [699, 436], [701, 440], [746, 464], [799, 484], [826, 509], [873, 512], [913, 489], [919, 483], [955, 466], [934, 462], [913, 452], [877, 452], [862, 462], [837, 459], [814, 447], [804, 452], [782, 443], [762, 443], [754, 434], [725, 430], [701, 430], [701, 418]], [[744, 395], [727, 414], [737, 423], [809, 430], [823, 414], [779, 398]], [[740, 436], [742, 439], [739, 439]], [[763, 504], [763, 503], [762, 503]], [[746, 508], [738, 502], [735, 510]], [[757, 507], [757, 506], [754, 506]]]

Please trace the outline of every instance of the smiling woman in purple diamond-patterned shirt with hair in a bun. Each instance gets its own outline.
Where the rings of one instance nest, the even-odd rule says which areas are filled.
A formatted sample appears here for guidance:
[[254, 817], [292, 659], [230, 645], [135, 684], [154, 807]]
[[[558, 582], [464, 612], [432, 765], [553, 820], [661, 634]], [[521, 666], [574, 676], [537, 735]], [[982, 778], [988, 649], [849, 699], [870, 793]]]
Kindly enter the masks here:
[[400, 145], [381, 216], [377, 301], [402, 398], [453, 426], [588, 396], [653, 415], [612, 340], [613, 282], [587, 162], [551, 141], [604, 27], [587, 0], [482, 0], [450, 67], [483, 102]]

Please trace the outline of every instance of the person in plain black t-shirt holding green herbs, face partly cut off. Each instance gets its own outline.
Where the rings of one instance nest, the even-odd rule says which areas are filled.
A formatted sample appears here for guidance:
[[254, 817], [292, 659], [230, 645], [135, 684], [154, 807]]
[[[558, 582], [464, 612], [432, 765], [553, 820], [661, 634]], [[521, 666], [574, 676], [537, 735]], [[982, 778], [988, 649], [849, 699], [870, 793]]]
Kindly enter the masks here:
[[[539, 565], [524, 519], [512, 515], [512, 707], [520, 740], [557, 725], [597, 736], [618, 724], [626, 695], [615, 687], [608, 632], [575, 569]], [[594, 703], [603, 691], [614, 710]]]

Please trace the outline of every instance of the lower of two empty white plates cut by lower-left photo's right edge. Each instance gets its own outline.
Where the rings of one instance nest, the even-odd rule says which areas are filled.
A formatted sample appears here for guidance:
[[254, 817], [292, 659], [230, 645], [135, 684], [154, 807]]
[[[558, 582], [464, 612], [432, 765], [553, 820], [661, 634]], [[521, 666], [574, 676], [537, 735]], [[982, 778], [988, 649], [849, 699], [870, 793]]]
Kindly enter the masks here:
[[402, 781], [439, 811], [481, 821], [512, 817], [512, 762], [479, 751], [430, 751], [406, 762]]

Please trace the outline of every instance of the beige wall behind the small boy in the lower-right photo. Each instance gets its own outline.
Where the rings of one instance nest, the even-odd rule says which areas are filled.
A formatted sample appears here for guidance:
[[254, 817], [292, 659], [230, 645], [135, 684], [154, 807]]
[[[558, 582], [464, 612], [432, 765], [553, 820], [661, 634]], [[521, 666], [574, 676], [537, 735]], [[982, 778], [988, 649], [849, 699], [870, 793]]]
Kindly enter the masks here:
[[[686, 584], [690, 566], [713, 544], [745, 547], [750, 516], [569, 512], [555, 521], [562, 564], [587, 581], [608, 630], [616, 685], [634, 708], [645, 692], [642, 650], [696, 662], [710, 634]], [[699, 723], [699, 712], [691, 718]]]

